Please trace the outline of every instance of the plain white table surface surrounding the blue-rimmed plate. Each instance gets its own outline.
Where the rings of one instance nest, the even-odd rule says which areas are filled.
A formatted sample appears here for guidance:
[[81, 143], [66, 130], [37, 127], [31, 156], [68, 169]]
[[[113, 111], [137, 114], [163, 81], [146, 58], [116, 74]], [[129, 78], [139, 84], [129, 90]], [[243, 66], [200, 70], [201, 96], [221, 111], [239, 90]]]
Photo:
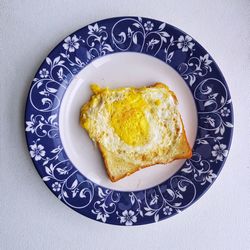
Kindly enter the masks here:
[[[152, 17], [196, 38], [229, 85], [235, 130], [218, 180], [171, 219], [105, 225], [63, 205], [38, 176], [24, 137], [24, 105], [38, 66], [72, 31], [103, 18]], [[250, 2], [0, 1], [0, 249], [250, 249]]]

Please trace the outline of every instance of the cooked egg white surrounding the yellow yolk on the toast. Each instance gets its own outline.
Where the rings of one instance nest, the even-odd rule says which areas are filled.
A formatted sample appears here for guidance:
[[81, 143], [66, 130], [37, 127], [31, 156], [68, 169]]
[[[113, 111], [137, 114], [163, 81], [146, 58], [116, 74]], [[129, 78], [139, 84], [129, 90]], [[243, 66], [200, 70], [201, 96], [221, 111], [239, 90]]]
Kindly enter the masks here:
[[[126, 144], [110, 125], [110, 114], [105, 103], [122, 100], [128, 91], [129, 88], [125, 88], [122, 91], [113, 92], [106, 99], [101, 99], [99, 96], [94, 105], [89, 108], [87, 115], [91, 127], [95, 128], [92, 137], [94, 141], [98, 141], [108, 151], [116, 153], [127, 162], [141, 164], [142, 160], [137, 157], [138, 155], [151, 154], [158, 148], [168, 148], [174, 144], [177, 137], [182, 133], [182, 122], [172, 95], [167, 95], [166, 90], [161, 88], [145, 88], [141, 91], [141, 94], [152, 109], [152, 112], [148, 109], [144, 110], [149, 123], [149, 140], [141, 146]], [[158, 105], [155, 104], [157, 100], [160, 100]]]

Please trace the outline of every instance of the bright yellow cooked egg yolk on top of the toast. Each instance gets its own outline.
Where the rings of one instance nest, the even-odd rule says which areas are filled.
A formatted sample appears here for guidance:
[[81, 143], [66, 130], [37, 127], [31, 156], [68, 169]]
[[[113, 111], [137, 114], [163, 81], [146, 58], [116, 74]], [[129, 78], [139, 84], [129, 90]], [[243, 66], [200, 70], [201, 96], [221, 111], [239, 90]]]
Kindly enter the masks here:
[[108, 107], [111, 126], [128, 145], [141, 146], [149, 140], [149, 123], [144, 114], [146, 107], [147, 103], [141, 94], [133, 90], [124, 99]]

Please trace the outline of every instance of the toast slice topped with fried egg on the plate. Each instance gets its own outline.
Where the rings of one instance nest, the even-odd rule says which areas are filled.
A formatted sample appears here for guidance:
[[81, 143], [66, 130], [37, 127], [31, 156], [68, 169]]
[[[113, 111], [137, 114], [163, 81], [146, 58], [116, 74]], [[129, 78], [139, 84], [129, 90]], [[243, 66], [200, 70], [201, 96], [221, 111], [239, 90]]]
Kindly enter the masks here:
[[80, 124], [98, 145], [111, 181], [192, 156], [177, 98], [165, 84], [91, 89]]

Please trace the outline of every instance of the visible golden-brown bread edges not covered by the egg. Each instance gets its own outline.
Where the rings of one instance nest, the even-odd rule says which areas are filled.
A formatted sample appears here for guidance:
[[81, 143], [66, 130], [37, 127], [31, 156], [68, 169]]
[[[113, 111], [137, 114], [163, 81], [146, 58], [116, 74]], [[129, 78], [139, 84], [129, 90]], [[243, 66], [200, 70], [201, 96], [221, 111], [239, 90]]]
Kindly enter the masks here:
[[[171, 96], [172, 99], [174, 100], [174, 108], [176, 109], [176, 106], [178, 104], [177, 98], [174, 92], [169, 90], [169, 88], [166, 85], [162, 83], [155, 83], [146, 88], [163, 89], [166, 92], [166, 94]], [[94, 94], [98, 94], [98, 92], [94, 92]], [[88, 116], [87, 110], [90, 109], [88, 105], [89, 104], [85, 104], [81, 110], [81, 118], [80, 118], [81, 124], [87, 130], [91, 139], [97, 143], [99, 150], [103, 157], [103, 161], [104, 161], [107, 174], [112, 182], [116, 182], [126, 176], [129, 176], [132, 173], [142, 168], [146, 168], [155, 164], [167, 164], [176, 159], [186, 159], [192, 156], [192, 150], [187, 141], [184, 125], [183, 125], [180, 113], [177, 111], [177, 109], [175, 110], [175, 115], [178, 117], [179, 122], [178, 122], [178, 126], [175, 126], [175, 130], [172, 132], [173, 135], [171, 138], [174, 138], [174, 139], [173, 141], [171, 141], [171, 145], [170, 146], [168, 145], [166, 147], [164, 147], [163, 145], [163, 146], [160, 146], [161, 147], [160, 149], [155, 148], [155, 150], [153, 151], [151, 150], [149, 152], [141, 154], [140, 160], [138, 161], [138, 157], [134, 156], [135, 154], [127, 154], [127, 158], [124, 157], [124, 155], [122, 155], [121, 157], [121, 155], [119, 155], [116, 151], [111, 150], [110, 147], [108, 147], [109, 144], [108, 146], [105, 146], [104, 143], [99, 139], [99, 137], [97, 136], [95, 137], [93, 135], [94, 134], [93, 128], [92, 128], [92, 131], [90, 131], [89, 128], [86, 128], [86, 126], [84, 125], [84, 122], [86, 122], [86, 117]], [[88, 121], [88, 126], [89, 126], [89, 123], [90, 122]]]

